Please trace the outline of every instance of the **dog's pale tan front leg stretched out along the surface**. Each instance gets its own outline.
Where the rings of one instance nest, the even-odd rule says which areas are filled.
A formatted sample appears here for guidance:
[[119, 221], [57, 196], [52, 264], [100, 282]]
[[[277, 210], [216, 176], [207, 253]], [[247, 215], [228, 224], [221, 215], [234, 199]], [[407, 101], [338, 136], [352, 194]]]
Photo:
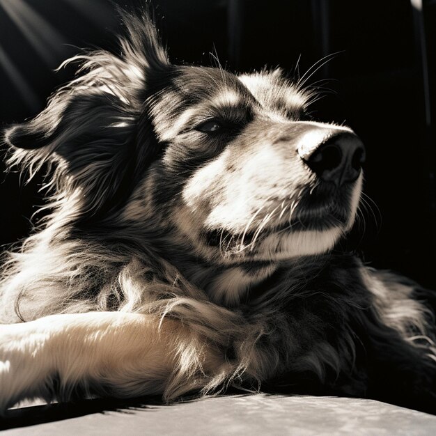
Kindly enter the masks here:
[[[47, 316], [0, 325], [0, 411], [24, 398], [160, 394], [171, 375], [175, 320], [120, 312]], [[186, 336], [185, 336], [186, 337]]]

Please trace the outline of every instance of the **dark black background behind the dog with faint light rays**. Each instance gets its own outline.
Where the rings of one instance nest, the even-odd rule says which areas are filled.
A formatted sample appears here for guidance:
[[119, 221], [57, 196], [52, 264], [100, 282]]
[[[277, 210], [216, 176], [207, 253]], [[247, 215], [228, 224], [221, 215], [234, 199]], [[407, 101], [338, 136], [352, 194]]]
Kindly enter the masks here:
[[[79, 47], [116, 50], [120, 29], [109, 0], [0, 0], [0, 122], [34, 116], [72, 77], [54, 69]], [[136, 3], [138, 1], [136, 0]], [[172, 61], [229, 70], [281, 65], [302, 75], [337, 53], [309, 80], [325, 96], [316, 118], [346, 122], [367, 148], [371, 205], [353, 246], [436, 288], [436, 0], [155, 0]], [[297, 60], [299, 66], [296, 68]], [[2, 168], [3, 170], [4, 168]], [[22, 238], [41, 204], [40, 180], [3, 176], [0, 243]], [[369, 199], [371, 198], [371, 199]], [[361, 241], [361, 233], [365, 233]]]

